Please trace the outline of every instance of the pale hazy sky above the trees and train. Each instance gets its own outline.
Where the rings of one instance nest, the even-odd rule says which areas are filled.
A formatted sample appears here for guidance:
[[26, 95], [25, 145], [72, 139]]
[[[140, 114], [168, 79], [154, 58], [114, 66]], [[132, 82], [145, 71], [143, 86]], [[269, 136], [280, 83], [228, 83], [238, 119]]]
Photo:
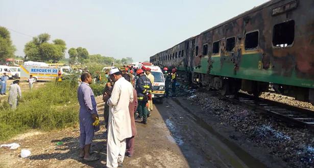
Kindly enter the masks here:
[[0, 26], [11, 32], [16, 55], [25, 55], [32, 37], [48, 33], [68, 49], [142, 62], [267, 1], [0, 0]]

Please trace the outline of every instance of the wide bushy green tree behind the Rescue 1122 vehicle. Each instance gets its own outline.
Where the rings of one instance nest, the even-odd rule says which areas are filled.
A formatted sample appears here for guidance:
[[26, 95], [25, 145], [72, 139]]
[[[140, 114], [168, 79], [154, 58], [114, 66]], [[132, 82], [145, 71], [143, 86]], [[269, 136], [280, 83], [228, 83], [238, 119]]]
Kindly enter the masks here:
[[27, 60], [32, 61], [59, 61], [64, 58], [66, 44], [61, 39], [49, 43], [50, 35], [47, 33], [34, 37], [25, 44], [24, 53]]

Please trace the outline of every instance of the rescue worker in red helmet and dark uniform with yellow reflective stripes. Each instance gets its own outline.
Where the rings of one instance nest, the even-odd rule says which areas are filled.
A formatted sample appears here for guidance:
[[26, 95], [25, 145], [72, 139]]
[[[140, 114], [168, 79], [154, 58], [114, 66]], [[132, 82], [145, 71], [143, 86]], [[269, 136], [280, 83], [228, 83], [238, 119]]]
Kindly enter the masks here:
[[147, 102], [148, 102], [148, 94], [152, 93], [153, 86], [149, 78], [144, 75], [144, 71], [142, 69], [138, 69], [136, 71], [136, 75], [139, 76], [136, 81], [136, 92], [138, 99], [138, 117], [137, 120], [142, 119], [141, 123], [147, 124]]

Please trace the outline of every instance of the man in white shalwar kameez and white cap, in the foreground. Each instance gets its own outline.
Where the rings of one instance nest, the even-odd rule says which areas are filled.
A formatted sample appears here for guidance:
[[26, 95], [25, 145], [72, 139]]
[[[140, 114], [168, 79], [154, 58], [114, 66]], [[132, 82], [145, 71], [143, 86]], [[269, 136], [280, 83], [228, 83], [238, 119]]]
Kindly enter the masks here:
[[107, 167], [122, 167], [126, 152], [126, 138], [132, 136], [129, 103], [133, 102], [133, 86], [117, 68], [110, 70], [114, 81], [113, 90], [107, 103], [109, 105]]

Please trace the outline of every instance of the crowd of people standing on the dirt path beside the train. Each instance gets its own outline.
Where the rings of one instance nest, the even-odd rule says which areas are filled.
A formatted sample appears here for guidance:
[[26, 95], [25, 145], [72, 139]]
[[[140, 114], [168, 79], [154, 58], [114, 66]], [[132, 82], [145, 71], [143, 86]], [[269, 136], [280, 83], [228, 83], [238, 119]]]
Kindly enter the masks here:
[[[168, 72], [167, 68], [163, 70], [166, 85], [172, 82], [175, 92], [178, 76], [176, 69], [173, 69], [172, 73]], [[122, 167], [124, 157], [132, 157], [134, 153], [134, 137], [137, 134], [135, 120], [147, 124], [148, 117], [151, 116], [154, 76], [151, 74], [151, 69], [144, 66], [141, 69], [132, 66], [113, 68], [107, 70], [105, 74], [108, 80], [103, 93], [106, 128], [104, 136], [107, 138], [106, 166]], [[83, 73], [82, 83], [78, 88], [81, 148], [79, 156], [85, 162], [100, 159], [91, 155], [90, 151], [94, 132], [99, 130], [99, 113], [89, 87], [91, 78], [89, 73]]]

